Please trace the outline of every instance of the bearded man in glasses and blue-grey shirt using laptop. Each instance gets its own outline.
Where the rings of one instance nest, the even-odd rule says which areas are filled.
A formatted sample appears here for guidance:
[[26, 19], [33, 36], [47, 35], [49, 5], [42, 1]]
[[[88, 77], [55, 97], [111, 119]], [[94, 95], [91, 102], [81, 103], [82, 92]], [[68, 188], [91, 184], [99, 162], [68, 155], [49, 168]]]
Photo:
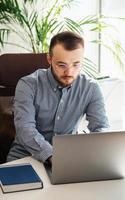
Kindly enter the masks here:
[[98, 84], [80, 74], [84, 40], [72, 32], [51, 39], [50, 68], [19, 80], [14, 103], [16, 138], [8, 161], [32, 155], [51, 160], [55, 134], [75, 134], [86, 114], [90, 132], [108, 128], [104, 100]]

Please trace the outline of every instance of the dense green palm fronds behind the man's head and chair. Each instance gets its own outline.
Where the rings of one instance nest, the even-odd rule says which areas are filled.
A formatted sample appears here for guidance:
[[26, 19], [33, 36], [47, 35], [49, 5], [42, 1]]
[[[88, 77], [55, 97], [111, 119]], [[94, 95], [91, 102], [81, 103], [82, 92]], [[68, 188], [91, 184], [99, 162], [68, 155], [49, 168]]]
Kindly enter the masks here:
[[36, 7], [38, 2], [40, 3], [38, 0], [22, 0], [22, 3], [18, 0], [1, 0], [0, 23], [4, 27], [0, 30], [2, 45], [7, 42], [5, 37], [13, 32], [29, 46], [28, 51], [46, 52], [49, 38], [53, 34], [64, 29], [83, 33], [78, 23], [60, 17], [63, 9], [69, 7], [73, 0], [52, 0], [50, 3], [43, 0], [40, 9]]

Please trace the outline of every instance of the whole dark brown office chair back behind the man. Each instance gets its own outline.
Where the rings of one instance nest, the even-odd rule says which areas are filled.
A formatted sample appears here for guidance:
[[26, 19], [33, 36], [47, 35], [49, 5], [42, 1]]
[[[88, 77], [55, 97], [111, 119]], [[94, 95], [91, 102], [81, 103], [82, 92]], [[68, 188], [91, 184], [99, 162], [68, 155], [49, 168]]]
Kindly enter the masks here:
[[0, 164], [6, 161], [15, 137], [13, 96], [18, 80], [38, 68], [48, 68], [46, 53], [0, 56]]

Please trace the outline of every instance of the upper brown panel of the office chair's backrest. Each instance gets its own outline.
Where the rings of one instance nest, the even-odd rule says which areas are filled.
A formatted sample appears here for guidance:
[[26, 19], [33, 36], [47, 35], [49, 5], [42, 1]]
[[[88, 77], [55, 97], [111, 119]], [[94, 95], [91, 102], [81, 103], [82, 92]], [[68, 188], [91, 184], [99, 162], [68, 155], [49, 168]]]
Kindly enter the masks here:
[[0, 56], [0, 96], [13, 96], [17, 81], [38, 68], [48, 68], [46, 53]]

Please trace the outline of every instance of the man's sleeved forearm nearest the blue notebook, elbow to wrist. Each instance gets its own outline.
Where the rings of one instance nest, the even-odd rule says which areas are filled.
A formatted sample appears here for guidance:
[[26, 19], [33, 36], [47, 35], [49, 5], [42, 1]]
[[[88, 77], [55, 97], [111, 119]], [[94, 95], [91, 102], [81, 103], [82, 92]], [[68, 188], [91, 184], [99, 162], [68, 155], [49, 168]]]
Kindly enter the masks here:
[[16, 132], [21, 146], [35, 159], [45, 162], [52, 156], [52, 145], [35, 128], [18, 128]]

